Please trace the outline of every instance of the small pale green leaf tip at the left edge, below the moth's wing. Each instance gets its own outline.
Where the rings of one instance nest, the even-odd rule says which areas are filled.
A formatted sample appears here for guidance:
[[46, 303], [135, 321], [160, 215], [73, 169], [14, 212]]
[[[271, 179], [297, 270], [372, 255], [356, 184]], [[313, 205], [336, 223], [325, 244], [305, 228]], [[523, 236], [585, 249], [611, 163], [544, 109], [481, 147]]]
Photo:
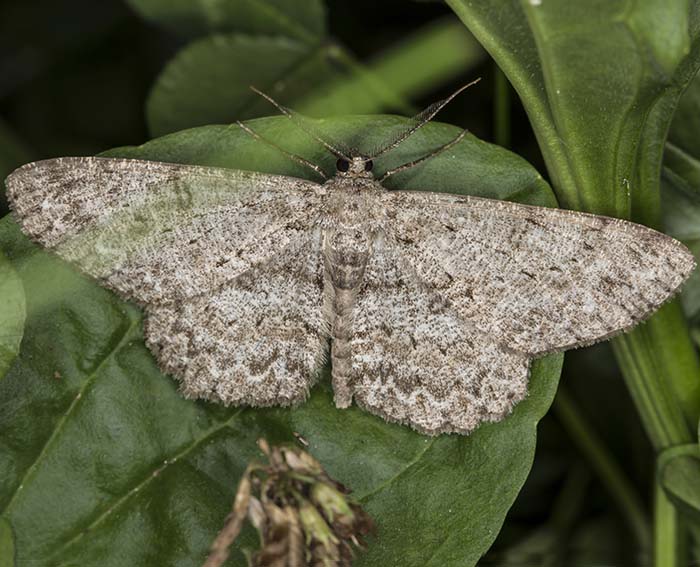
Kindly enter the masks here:
[[25, 316], [22, 282], [0, 247], [0, 380], [19, 353]]

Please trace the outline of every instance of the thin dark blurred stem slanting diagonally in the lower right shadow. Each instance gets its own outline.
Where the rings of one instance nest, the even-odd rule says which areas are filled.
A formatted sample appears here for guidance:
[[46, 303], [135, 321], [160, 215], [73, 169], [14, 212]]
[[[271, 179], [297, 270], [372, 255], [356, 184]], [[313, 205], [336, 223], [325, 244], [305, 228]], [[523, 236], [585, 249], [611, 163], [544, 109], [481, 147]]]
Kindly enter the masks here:
[[563, 385], [559, 386], [553, 407], [571, 440], [586, 457], [610, 497], [617, 502], [637, 542], [640, 554], [648, 557], [651, 550], [651, 530], [644, 507], [629, 479], [605, 444], [593, 432]]

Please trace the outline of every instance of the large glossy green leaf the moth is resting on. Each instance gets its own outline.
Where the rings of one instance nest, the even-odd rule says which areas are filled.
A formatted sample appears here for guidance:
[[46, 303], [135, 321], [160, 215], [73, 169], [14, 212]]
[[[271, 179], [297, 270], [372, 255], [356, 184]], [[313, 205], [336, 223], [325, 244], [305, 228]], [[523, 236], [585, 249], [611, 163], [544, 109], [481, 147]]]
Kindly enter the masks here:
[[[335, 159], [281, 117], [250, 126], [331, 171]], [[397, 117], [323, 121], [362, 150], [406, 124]], [[432, 124], [379, 160], [386, 167], [451, 139]], [[112, 156], [311, 176], [237, 127], [179, 132]], [[554, 205], [521, 158], [468, 137], [393, 187], [477, 193]], [[353, 407], [337, 410], [327, 373], [295, 409], [224, 408], [182, 398], [144, 346], [133, 306], [79, 276], [0, 222], [0, 245], [24, 282], [22, 351], [0, 382], [0, 509], [17, 561], [51, 565], [199, 565], [223, 525], [256, 439], [294, 433], [374, 517], [376, 536], [358, 565], [475, 565], [527, 477], [536, 426], [554, 395], [562, 357], [538, 360], [530, 394], [500, 423], [472, 435], [428, 438]], [[241, 546], [231, 565], [244, 565]]]

